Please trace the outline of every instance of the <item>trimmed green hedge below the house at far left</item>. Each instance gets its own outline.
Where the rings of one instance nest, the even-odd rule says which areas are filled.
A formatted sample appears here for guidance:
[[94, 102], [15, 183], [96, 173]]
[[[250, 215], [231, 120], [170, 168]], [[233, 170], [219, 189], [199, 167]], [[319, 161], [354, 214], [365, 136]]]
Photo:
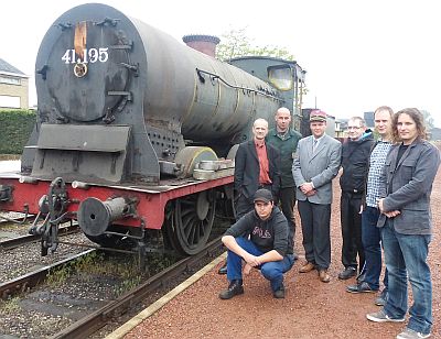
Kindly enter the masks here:
[[0, 110], [0, 154], [21, 154], [34, 123], [34, 111]]

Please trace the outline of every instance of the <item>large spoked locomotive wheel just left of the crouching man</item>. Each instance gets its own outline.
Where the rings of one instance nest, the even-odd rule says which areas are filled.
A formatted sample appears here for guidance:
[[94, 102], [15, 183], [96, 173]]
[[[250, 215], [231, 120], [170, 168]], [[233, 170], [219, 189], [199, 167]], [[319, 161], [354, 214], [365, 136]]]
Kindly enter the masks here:
[[215, 216], [213, 192], [201, 192], [179, 198], [166, 214], [168, 241], [181, 254], [193, 255], [206, 244]]

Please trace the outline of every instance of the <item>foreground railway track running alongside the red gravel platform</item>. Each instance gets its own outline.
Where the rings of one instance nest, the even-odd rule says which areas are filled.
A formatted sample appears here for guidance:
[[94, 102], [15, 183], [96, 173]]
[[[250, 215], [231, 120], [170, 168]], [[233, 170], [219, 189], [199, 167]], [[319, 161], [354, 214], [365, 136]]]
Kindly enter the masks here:
[[[195, 272], [194, 267], [205, 265], [208, 262], [207, 260], [212, 261], [213, 255], [217, 256], [222, 252], [222, 244], [218, 237], [209, 242], [200, 254], [185, 258], [179, 262], [173, 259], [171, 260], [172, 264], [170, 261], [166, 263], [166, 256], [160, 256], [160, 262], [157, 262], [158, 256], [154, 256], [157, 254], [149, 254], [153, 256], [149, 256], [148, 272], [154, 274], [154, 272], [161, 270], [154, 276], [149, 273], [137, 274], [138, 269], [135, 271], [128, 269], [129, 277], [127, 275], [114, 276], [115, 273], [106, 275], [105, 271], [101, 270], [107, 269], [99, 269], [99, 266], [133, 266], [132, 263], [128, 262], [127, 255], [101, 258], [100, 252], [92, 255], [95, 259], [101, 258], [97, 261], [97, 269], [89, 264], [88, 269], [83, 271], [85, 262], [94, 262], [94, 259], [90, 261], [89, 256], [85, 256], [93, 251], [88, 249], [88, 251], [75, 255], [66, 253], [66, 255], [69, 255], [67, 259], [58, 259], [56, 263], [47, 263], [36, 270], [34, 267], [32, 273], [23, 272], [21, 276], [1, 283], [0, 298], [3, 299], [3, 306], [8, 303], [15, 305], [12, 314], [7, 310], [8, 308], [0, 308], [0, 317], [8, 317], [3, 321], [0, 320], [0, 327], [4, 327], [3, 335], [85, 338], [93, 333], [97, 336], [96, 332], [99, 331], [99, 337], [101, 337], [101, 332], [110, 332], [115, 329], [115, 326], [121, 325], [125, 318], [131, 317], [133, 311], [137, 313], [144, 305], [154, 302], [153, 298], [157, 298], [160, 293], [158, 291], [166, 289], [169, 292], [174, 287], [172, 284], [176, 284], [176, 280], [183, 281], [187, 277], [189, 271]], [[29, 254], [29, 251], [26, 253]], [[75, 259], [78, 263], [72, 262]], [[161, 269], [161, 266], [164, 267], [170, 264], [169, 269]], [[115, 272], [118, 272], [118, 269]], [[66, 273], [68, 274], [66, 280], [58, 282], [58, 277]], [[45, 280], [46, 283], [42, 285]], [[55, 281], [58, 283], [53, 285]], [[41, 287], [35, 287], [37, 285], [41, 285]], [[132, 286], [138, 287], [133, 288]], [[130, 292], [126, 293], [129, 289]], [[0, 300], [0, 305], [1, 303]], [[30, 315], [35, 314], [39, 316], [31, 317], [46, 319], [46, 321], [42, 321], [41, 328], [37, 328], [35, 324], [32, 327], [24, 326], [28, 324], [29, 320], [26, 319], [30, 319]], [[87, 316], [84, 317], [85, 315]], [[119, 318], [120, 316], [121, 318]], [[47, 324], [47, 321], [55, 321], [56, 326], [45, 328], [43, 324]]]

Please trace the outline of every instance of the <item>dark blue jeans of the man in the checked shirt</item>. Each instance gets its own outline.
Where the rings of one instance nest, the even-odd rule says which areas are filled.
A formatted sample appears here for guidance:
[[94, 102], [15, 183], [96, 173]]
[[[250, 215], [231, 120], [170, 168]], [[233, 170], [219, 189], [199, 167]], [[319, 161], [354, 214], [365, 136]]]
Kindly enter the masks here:
[[[379, 210], [375, 207], [366, 207], [362, 214], [362, 242], [365, 249], [365, 266], [363, 272], [365, 274], [364, 282], [370, 288], [379, 288], [379, 276], [381, 274], [381, 236], [380, 229], [377, 228]], [[385, 271], [385, 278], [383, 280], [385, 288], [387, 289], [387, 269]]]

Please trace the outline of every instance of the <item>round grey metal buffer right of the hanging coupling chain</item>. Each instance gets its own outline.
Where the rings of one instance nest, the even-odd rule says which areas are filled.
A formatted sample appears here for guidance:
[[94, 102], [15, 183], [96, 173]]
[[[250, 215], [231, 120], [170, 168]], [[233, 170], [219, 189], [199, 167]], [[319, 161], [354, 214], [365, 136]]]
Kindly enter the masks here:
[[79, 204], [77, 217], [83, 232], [97, 237], [104, 234], [111, 221], [122, 218], [129, 210], [123, 198], [101, 201], [87, 198]]

